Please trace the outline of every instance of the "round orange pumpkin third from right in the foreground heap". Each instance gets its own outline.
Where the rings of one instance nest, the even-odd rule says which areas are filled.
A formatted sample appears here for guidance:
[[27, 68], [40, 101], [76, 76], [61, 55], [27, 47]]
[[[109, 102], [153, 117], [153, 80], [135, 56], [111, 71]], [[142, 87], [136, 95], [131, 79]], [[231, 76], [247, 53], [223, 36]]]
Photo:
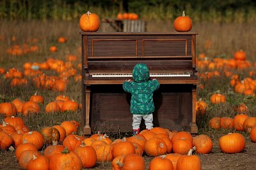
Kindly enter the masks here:
[[182, 155], [188, 154], [192, 147], [193, 145], [188, 139], [177, 139], [172, 143], [173, 153], [180, 153]]

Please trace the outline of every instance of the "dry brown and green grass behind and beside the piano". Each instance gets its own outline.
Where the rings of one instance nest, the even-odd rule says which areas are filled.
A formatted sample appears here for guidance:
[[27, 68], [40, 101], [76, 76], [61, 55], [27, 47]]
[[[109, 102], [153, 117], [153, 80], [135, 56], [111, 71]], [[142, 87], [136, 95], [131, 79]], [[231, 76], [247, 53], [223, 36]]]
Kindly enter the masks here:
[[[79, 25], [78, 20], [72, 21], [7, 21], [1, 20], [0, 25], [0, 67], [8, 70], [11, 67], [16, 67], [17, 69], [24, 71], [23, 64], [25, 62], [44, 62], [49, 57], [60, 60], [67, 60], [67, 55], [77, 55], [79, 60], [74, 62], [74, 67], [80, 62], [81, 51], [77, 50], [81, 47], [81, 37], [79, 35]], [[148, 22], [147, 30], [150, 31], [174, 31], [172, 22], [162, 21], [161, 25], [163, 27], [157, 27], [160, 22]], [[100, 30], [106, 25], [102, 23]], [[214, 24], [214, 23], [199, 23], [193, 25], [193, 30], [198, 32], [196, 37], [196, 52], [205, 53], [209, 60], [216, 57], [230, 59], [234, 55], [234, 52], [243, 48], [247, 54], [248, 60], [252, 63], [255, 62], [255, 27], [253, 24]], [[13, 36], [16, 40], [12, 41]], [[67, 43], [60, 44], [57, 43], [57, 39], [60, 36], [64, 36], [68, 39]], [[31, 39], [38, 39], [38, 41], [33, 42]], [[205, 43], [211, 41], [211, 45], [205, 47]], [[24, 55], [10, 55], [6, 53], [6, 50], [15, 44], [17, 45], [38, 45], [39, 50], [37, 52], [31, 52]], [[58, 52], [49, 52], [49, 46], [56, 45]], [[76, 67], [77, 69], [77, 67]], [[248, 76], [250, 70], [254, 70], [252, 67], [244, 71], [231, 70], [233, 73], [239, 74], [241, 78]], [[204, 73], [209, 71], [207, 69], [199, 69], [199, 73]], [[250, 116], [256, 112], [256, 106], [254, 104], [254, 97], [244, 97], [241, 94], [234, 92], [234, 89], [230, 87], [230, 78], [223, 74], [223, 70], [220, 71], [219, 77], [210, 78], [207, 80], [200, 79], [200, 83], [204, 85], [204, 89], [198, 89], [197, 99], [202, 98], [207, 104], [209, 104], [209, 110], [205, 113], [204, 117], [197, 117], [196, 123], [198, 125], [198, 130], [200, 134], [203, 133], [214, 133], [220, 131], [213, 131], [209, 129], [208, 122], [212, 117], [234, 117], [236, 112], [234, 111], [234, 106], [239, 103], [245, 103], [250, 113]], [[52, 71], [46, 72], [47, 74], [55, 74]], [[77, 69], [77, 74], [80, 70]], [[255, 79], [255, 77], [253, 77]], [[13, 87], [10, 88], [10, 81], [3, 78], [1, 75], [0, 79], [0, 103], [10, 102], [15, 98], [20, 98], [25, 101], [29, 100], [36, 90], [38, 94], [45, 97], [45, 103], [41, 106], [41, 111], [38, 115], [29, 115], [24, 117], [24, 122], [28, 125], [29, 129], [38, 131], [40, 127], [59, 125], [64, 120], [77, 120], [81, 122], [81, 111], [75, 113], [65, 112], [65, 113], [51, 113], [45, 114], [45, 105], [51, 101], [54, 101], [55, 97], [60, 94], [65, 94], [66, 96], [74, 99], [78, 103], [81, 103], [81, 81], [74, 81], [71, 77], [68, 83], [68, 88], [64, 92], [56, 92], [52, 90], [37, 89], [32, 83], [32, 79], [29, 79], [29, 86]], [[209, 98], [214, 92], [221, 92], [227, 96], [227, 102], [224, 104], [211, 104]], [[3, 119], [1, 115], [0, 119]], [[232, 130], [221, 130], [222, 132], [232, 131]], [[81, 134], [81, 129], [79, 131]], [[115, 138], [122, 138], [120, 135], [115, 135]]]

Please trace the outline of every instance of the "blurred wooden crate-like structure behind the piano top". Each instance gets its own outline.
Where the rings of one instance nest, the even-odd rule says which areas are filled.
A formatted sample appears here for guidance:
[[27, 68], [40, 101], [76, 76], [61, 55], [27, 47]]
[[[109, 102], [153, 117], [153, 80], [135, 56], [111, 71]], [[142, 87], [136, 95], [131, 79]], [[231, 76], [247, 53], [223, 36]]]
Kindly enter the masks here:
[[104, 18], [102, 22], [108, 23], [116, 32], [146, 32], [147, 25], [143, 20], [117, 20]]

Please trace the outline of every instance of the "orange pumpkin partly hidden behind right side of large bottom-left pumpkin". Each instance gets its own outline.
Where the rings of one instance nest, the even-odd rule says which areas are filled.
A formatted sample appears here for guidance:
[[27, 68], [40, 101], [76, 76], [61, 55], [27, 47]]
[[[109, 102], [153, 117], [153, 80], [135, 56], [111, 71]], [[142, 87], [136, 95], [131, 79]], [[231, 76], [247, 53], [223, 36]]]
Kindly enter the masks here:
[[92, 146], [86, 146], [82, 141], [82, 144], [77, 146], [74, 152], [81, 158], [83, 168], [92, 168], [96, 166], [97, 155]]

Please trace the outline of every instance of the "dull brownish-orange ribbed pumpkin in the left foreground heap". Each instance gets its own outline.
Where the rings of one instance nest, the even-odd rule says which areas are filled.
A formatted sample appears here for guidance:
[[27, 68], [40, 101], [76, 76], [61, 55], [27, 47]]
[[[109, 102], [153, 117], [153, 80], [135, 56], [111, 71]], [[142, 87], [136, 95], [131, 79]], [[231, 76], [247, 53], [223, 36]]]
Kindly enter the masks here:
[[60, 132], [55, 127], [42, 127], [40, 133], [44, 138], [45, 144], [51, 144], [52, 141], [60, 140]]

